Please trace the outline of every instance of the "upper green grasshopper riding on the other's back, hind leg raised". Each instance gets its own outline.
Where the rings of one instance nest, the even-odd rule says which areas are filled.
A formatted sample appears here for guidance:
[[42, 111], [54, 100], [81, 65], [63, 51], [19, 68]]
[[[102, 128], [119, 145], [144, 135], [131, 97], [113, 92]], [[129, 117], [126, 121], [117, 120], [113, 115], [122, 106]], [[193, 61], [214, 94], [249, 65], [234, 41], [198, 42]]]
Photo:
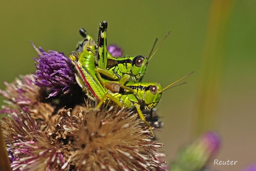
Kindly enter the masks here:
[[[98, 79], [100, 80], [103, 86], [104, 86], [104, 80], [102, 77], [108, 80], [114, 80], [114, 81], [118, 81], [124, 78], [128, 79], [132, 77], [134, 81], [139, 79], [141, 81], [146, 72], [148, 62], [154, 56], [154, 54], [159, 49], [159, 47], [164, 42], [164, 40], [167, 38], [170, 31], [164, 37], [159, 47], [156, 49], [156, 51], [151, 57], [150, 55], [152, 51], [149, 54], [148, 58], [144, 55], [130, 56], [130, 57], [113, 57], [107, 51], [107, 38], [106, 38], [107, 27], [108, 27], [108, 23], [106, 21], [103, 21], [102, 23], [100, 23], [97, 54], [95, 58], [95, 63], [96, 63], [95, 70], [96, 70]], [[80, 43], [78, 43], [76, 48], [76, 51], [78, 53], [85, 51], [84, 44], [88, 40], [92, 39], [92, 36], [88, 35], [83, 28], [80, 29], [80, 35], [84, 37], [84, 41], [81, 41]], [[156, 42], [154, 43], [154, 45], [155, 44]], [[128, 77], [125, 77], [125, 76], [128, 76]]]

